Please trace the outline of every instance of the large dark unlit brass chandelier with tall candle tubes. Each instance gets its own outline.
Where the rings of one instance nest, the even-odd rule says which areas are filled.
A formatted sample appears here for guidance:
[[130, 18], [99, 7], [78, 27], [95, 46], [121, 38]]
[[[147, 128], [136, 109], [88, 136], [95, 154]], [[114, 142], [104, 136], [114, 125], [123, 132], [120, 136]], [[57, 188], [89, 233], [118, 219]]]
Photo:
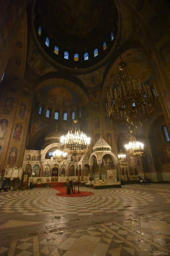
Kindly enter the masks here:
[[[118, 48], [119, 49], [119, 48]], [[157, 90], [132, 79], [130, 70], [120, 56], [118, 65], [118, 87], [107, 92], [107, 115], [111, 121], [122, 124], [137, 124], [156, 111]]]

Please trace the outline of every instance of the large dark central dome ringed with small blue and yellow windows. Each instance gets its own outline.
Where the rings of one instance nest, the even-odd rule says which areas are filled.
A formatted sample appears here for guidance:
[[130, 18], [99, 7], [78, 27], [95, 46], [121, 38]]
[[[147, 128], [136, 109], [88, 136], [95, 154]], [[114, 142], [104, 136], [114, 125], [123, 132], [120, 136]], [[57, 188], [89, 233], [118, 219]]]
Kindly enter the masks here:
[[38, 41], [48, 56], [71, 68], [90, 67], [103, 60], [118, 30], [114, 0], [36, 0], [33, 19]]

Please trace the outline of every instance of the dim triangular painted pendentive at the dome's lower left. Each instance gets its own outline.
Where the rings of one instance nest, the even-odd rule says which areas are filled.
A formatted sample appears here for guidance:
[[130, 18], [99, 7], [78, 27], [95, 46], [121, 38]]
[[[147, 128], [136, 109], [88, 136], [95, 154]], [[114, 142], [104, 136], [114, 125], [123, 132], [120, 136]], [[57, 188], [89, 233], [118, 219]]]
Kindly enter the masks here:
[[[38, 75], [42, 76], [49, 72], [57, 72], [58, 70], [52, 67], [37, 50], [33, 40], [28, 43], [27, 63], [29, 67]], [[32, 74], [30, 74], [32, 75]]]

